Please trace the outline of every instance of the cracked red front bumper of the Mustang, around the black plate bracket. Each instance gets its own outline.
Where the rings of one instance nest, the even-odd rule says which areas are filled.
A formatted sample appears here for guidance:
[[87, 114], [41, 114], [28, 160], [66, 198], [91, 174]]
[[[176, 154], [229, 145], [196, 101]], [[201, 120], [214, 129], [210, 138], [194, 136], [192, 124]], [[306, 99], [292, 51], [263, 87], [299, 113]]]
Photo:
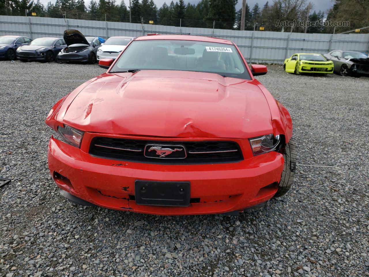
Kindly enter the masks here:
[[[243, 211], [273, 197], [284, 164], [277, 152], [229, 164], [132, 163], [92, 157], [54, 137], [49, 141], [48, 161], [56, 184], [68, 193], [104, 208], [155, 215]], [[137, 205], [136, 180], [189, 181], [190, 205]]]

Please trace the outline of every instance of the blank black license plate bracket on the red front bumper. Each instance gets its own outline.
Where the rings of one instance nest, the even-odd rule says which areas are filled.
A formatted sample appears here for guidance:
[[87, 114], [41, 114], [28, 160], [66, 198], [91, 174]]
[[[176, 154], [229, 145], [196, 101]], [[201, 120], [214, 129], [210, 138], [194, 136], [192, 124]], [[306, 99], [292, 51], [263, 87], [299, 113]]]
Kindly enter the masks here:
[[190, 205], [190, 182], [135, 181], [135, 201], [138, 205]]

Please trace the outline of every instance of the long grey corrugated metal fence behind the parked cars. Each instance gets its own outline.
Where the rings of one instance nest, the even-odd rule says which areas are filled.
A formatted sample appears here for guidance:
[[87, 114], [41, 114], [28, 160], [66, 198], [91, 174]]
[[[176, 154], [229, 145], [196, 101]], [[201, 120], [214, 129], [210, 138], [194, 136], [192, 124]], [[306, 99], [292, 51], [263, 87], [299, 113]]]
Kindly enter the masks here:
[[24, 35], [32, 39], [62, 37], [65, 29], [77, 29], [86, 36], [132, 36], [149, 33], [205, 35], [232, 40], [248, 62], [283, 63], [296, 52], [325, 53], [332, 49], [369, 50], [369, 34], [303, 34], [267, 31], [235, 31], [162, 25], [105, 22], [48, 17], [0, 16], [0, 35]]

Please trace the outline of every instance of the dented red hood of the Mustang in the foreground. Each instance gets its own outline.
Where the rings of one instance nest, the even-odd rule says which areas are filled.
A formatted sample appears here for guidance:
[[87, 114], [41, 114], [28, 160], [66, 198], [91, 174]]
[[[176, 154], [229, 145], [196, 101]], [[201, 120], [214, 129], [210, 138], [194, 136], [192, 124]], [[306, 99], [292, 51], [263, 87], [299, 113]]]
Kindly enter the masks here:
[[83, 131], [221, 138], [273, 132], [254, 81], [213, 73], [104, 73], [73, 97], [63, 104], [63, 123]]

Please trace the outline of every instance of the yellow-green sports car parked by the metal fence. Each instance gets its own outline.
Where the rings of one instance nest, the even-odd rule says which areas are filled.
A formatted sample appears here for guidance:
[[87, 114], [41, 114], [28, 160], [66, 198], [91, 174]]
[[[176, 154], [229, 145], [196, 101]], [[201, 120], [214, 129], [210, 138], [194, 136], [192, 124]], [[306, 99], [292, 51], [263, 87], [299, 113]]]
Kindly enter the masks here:
[[333, 73], [333, 62], [327, 61], [323, 55], [297, 53], [285, 59], [283, 69], [289, 73]]

